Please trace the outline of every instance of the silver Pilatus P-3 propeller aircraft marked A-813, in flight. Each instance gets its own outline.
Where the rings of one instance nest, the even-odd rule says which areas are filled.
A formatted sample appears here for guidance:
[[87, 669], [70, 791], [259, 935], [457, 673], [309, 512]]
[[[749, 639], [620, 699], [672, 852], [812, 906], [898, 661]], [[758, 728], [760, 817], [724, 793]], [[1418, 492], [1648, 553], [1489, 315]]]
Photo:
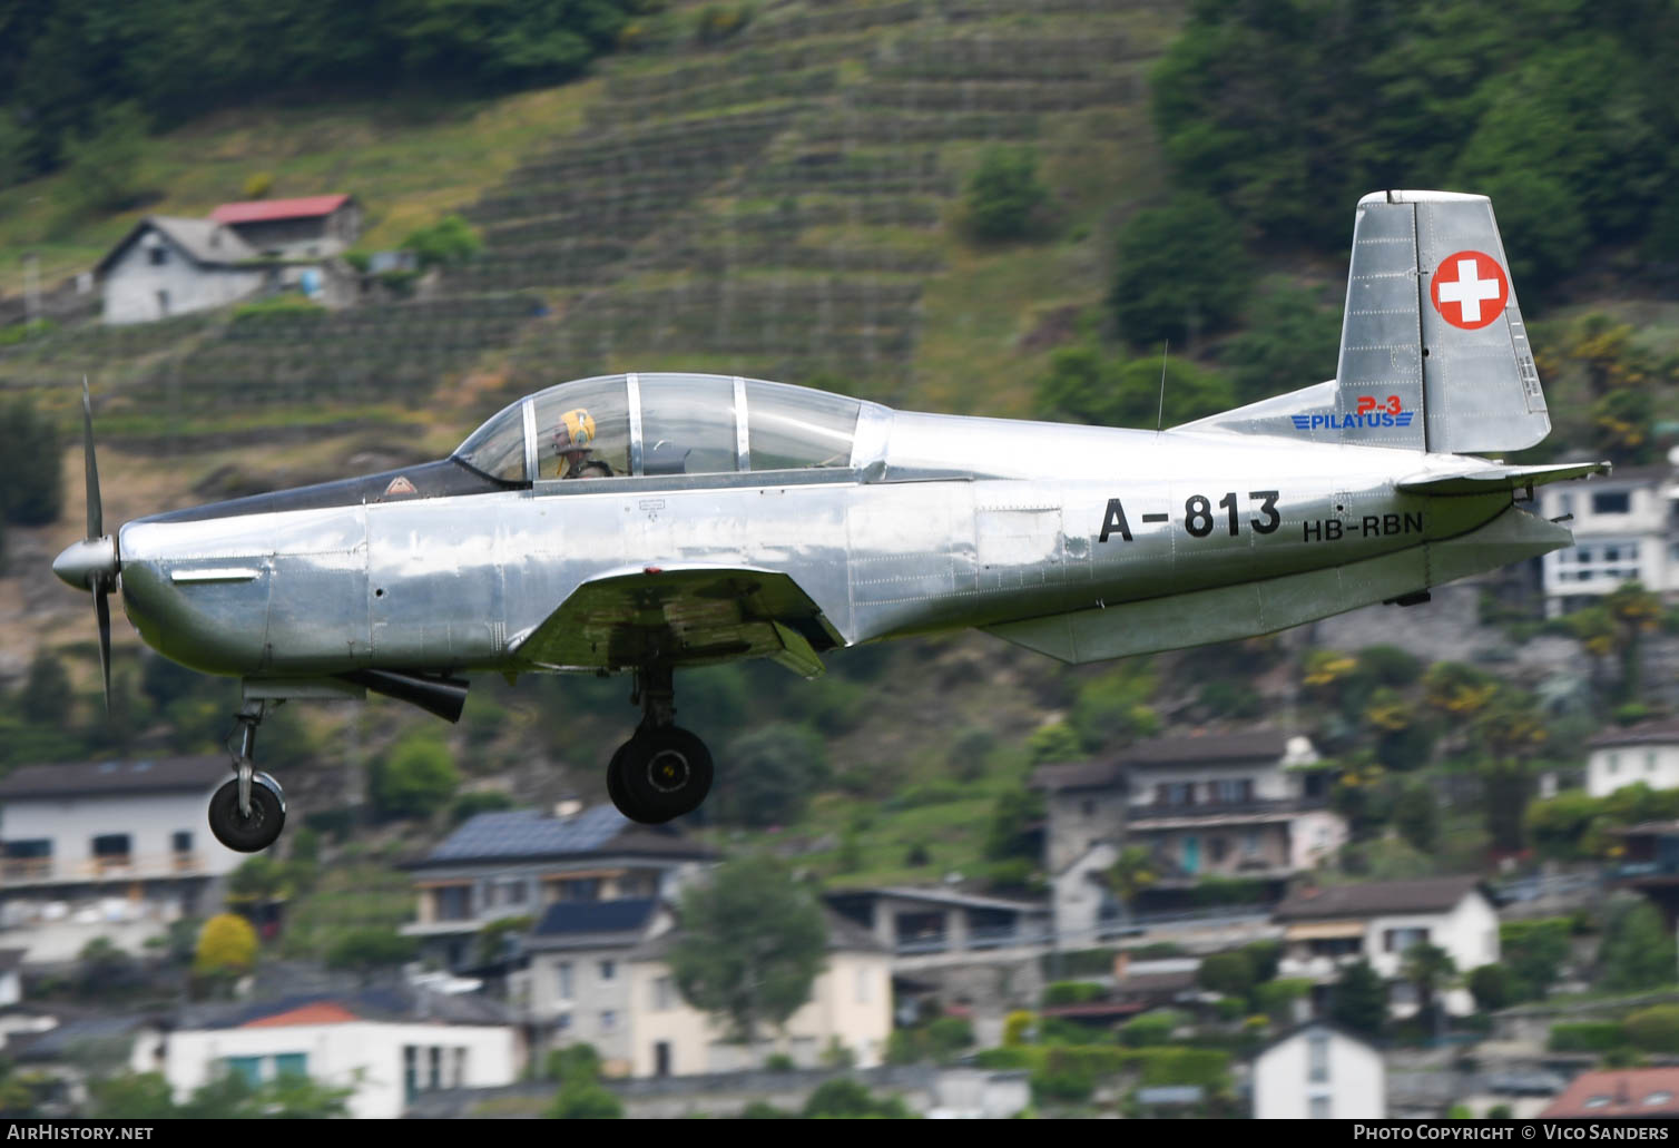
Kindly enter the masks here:
[[640, 822], [695, 809], [705, 745], [673, 671], [975, 626], [1064, 661], [1264, 634], [1572, 545], [1533, 487], [1603, 463], [1476, 453], [1550, 430], [1491, 203], [1360, 200], [1335, 379], [1169, 431], [893, 411], [704, 374], [522, 398], [448, 458], [160, 514], [54, 571], [168, 658], [237, 675], [235, 779], [210, 826], [255, 851], [285, 802], [267, 707], [396, 697], [457, 720], [462, 675], [630, 673], [613, 755]]

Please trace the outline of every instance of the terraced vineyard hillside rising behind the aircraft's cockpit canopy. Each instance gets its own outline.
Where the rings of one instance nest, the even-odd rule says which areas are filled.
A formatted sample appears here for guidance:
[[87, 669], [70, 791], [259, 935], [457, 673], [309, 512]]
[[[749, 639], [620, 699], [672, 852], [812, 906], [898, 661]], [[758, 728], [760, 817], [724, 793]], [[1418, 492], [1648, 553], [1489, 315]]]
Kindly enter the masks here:
[[460, 205], [487, 250], [440, 294], [69, 326], [0, 349], [0, 386], [89, 373], [195, 428], [416, 406], [473, 371], [502, 391], [678, 366], [888, 401], [949, 391], [947, 357], [920, 351], [928, 290], [960, 302], [952, 277], [975, 274], [952, 260], [979, 149], [1031, 141], [1078, 168], [1111, 148], [1085, 136], [1145, 123], [1145, 67], [1177, 20], [1165, 0], [806, 0], [724, 45], [620, 57], [579, 129]]

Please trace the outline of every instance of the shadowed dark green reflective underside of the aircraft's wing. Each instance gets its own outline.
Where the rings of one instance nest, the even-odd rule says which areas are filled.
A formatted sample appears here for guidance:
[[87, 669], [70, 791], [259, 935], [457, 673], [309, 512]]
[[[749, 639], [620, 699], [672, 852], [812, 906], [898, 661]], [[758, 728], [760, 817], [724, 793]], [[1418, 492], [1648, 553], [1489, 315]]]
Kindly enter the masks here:
[[559, 609], [507, 644], [541, 670], [771, 658], [816, 678], [823, 673], [818, 648], [845, 641], [787, 574], [650, 566], [583, 582]]

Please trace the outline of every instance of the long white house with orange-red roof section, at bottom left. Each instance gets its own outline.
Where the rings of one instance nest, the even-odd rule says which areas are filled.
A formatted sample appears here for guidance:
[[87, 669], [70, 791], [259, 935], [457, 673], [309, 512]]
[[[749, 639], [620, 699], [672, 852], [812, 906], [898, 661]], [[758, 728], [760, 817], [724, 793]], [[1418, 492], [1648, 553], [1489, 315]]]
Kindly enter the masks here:
[[[447, 1000], [405, 1000], [393, 1009], [393, 1002], [369, 992], [359, 999], [245, 1005], [196, 1027], [141, 1032], [129, 1067], [163, 1072], [176, 1101], [222, 1072], [238, 1072], [252, 1084], [296, 1072], [317, 1084], [353, 1088], [349, 1113], [363, 1119], [401, 1116], [421, 1091], [497, 1088], [519, 1079], [524, 1054], [512, 1024], [489, 1015], [479, 1022], [416, 1019], [445, 1014]], [[453, 1002], [453, 1009], [458, 1015], [482, 1010], [484, 1004]]]

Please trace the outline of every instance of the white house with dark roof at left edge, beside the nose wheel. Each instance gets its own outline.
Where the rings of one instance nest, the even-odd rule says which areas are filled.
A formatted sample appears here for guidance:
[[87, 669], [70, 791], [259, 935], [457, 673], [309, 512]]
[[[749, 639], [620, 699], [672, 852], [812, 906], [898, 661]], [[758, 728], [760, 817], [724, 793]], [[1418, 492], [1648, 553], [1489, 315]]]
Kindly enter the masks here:
[[220, 757], [25, 765], [0, 782], [0, 930], [27, 963], [96, 937], [141, 952], [245, 861], [205, 824]]

